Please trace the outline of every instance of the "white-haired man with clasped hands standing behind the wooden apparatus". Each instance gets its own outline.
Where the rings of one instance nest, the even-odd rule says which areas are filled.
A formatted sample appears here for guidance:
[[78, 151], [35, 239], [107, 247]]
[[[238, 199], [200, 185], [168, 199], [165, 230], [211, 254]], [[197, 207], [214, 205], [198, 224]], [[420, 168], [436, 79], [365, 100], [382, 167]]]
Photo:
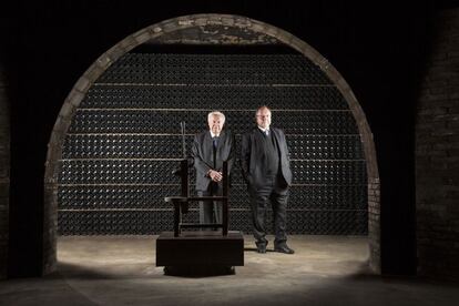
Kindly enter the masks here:
[[[207, 115], [208, 130], [194, 137], [192, 155], [196, 169], [198, 196], [222, 195], [223, 162], [228, 162], [228, 174], [233, 166], [234, 139], [223, 130], [225, 115], [214, 111]], [[222, 223], [222, 205], [218, 202], [200, 202], [200, 222]]]

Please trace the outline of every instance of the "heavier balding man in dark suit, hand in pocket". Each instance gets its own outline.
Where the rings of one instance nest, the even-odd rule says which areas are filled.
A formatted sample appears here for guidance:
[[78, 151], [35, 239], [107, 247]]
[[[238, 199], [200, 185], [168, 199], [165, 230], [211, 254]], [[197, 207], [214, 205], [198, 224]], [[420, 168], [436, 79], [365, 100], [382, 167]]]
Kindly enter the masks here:
[[241, 167], [247, 182], [252, 204], [252, 222], [258, 253], [266, 253], [265, 215], [271, 202], [274, 215], [274, 251], [294, 254], [287, 246], [286, 207], [292, 171], [288, 147], [282, 130], [271, 128], [271, 110], [256, 111], [257, 126], [243, 135]]

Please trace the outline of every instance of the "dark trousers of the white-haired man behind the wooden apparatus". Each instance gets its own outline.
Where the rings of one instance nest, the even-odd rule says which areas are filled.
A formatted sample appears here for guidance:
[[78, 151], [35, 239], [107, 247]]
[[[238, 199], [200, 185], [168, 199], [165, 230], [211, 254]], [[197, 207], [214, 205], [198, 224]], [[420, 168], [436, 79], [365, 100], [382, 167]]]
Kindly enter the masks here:
[[[222, 195], [222, 187], [211, 182], [206, 191], [197, 191], [197, 196]], [[222, 203], [218, 201], [200, 201], [200, 223], [222, 223]]]

